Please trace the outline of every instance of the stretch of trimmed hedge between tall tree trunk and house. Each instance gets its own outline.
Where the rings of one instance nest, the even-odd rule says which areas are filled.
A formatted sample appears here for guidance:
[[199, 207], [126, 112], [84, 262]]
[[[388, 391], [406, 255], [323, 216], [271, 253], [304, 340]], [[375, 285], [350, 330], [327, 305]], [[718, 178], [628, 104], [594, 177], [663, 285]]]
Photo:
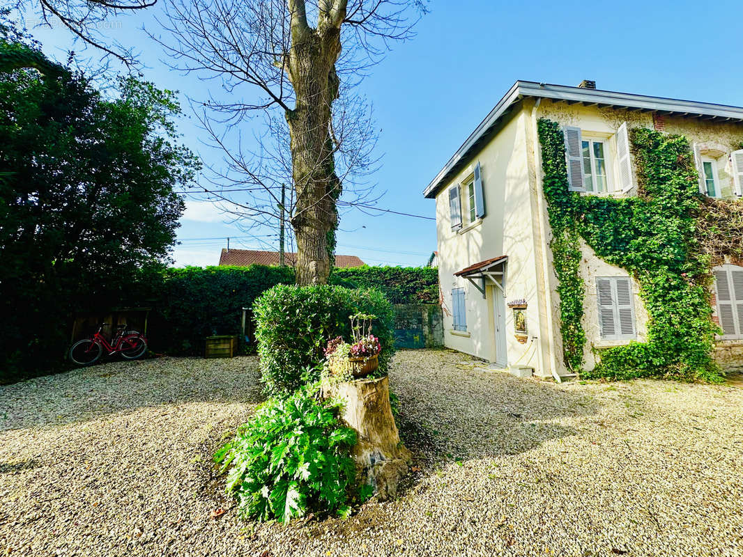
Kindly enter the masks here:
[[334, 269], [332, 281], [351, 288], [377, 288], [393, 304], [438, 304], [438, 270], [429, 267]]

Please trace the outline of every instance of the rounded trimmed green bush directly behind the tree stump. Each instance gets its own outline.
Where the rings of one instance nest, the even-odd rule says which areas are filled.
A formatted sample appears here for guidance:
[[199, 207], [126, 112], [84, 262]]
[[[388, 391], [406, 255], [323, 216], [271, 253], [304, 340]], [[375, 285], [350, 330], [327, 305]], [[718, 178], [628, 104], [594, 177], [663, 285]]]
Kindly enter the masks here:
[[395, 313], [379, 290], [279, 285], [256, 300], [253, 312], [262, 380], [271, 396], [286, 396], [317, 380], [325, 345], [336, 336], [351, 339], [349, 318], [355, 313], [376, 316], [371, 328], [382, 345], [380, 373], [395, 354]]

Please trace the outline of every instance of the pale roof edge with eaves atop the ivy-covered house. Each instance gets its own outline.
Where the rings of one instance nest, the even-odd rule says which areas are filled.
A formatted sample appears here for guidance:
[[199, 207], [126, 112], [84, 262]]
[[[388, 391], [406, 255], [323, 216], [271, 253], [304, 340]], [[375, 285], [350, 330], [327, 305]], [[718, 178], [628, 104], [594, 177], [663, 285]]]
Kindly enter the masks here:
[[743, 121], [743, 107], [716, 105], [711, 102], [695, 102], [691, 100], [667, 99], [665, 97], [649, 97], [631, 93], [617, 93], [615, 91], [601, 91], [568, 85], [549, 85], [533, 81], [517, 81], [513, 87], [499, 100], [490, 114], [467, 137], [464, 144], [457, 149], [441, 172], [426, 186], [424, 196], [434, 198], [438, 190], [446, 185], [447, 181], [464, 166], [470, 157], [475, 154], [481, 145], [492, 137], [496, 126], [513, 112], [519, 101], [525, 98], [550, 99], [565, 101], [569, 104], [611, 106], [641, 112], [658, 112], [675, 116], [702, 117], [704, 120], [735, 120]]

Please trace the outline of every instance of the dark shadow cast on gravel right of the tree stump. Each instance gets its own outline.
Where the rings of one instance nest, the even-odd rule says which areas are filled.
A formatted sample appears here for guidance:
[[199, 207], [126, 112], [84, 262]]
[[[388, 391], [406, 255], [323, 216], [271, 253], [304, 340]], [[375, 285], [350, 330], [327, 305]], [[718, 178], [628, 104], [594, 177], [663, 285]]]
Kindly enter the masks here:
[[577, 434], [571, 420], [598, 410], [593, 397], [552, 382], [456, 364], [392, 377], [392, 390], [400, 398], [400, 438], [414, 453], [414, 466], [425, 469], [519, 455]]

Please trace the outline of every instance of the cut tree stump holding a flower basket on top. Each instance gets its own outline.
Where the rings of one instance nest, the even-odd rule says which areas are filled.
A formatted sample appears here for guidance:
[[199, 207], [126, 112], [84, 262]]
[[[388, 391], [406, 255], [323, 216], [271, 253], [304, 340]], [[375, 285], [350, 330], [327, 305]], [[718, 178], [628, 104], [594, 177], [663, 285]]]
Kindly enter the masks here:
[[389, 405], [387, 377], [345, 382], [326, 380], [322, 394], [343, 401], [341, 418], [358, 436], [351, 457], [362, 478], [374, 486], [374, 495], [382, 500], [395, 497], [398, 483], [408, 473], [412, 454], [400, 442]]

